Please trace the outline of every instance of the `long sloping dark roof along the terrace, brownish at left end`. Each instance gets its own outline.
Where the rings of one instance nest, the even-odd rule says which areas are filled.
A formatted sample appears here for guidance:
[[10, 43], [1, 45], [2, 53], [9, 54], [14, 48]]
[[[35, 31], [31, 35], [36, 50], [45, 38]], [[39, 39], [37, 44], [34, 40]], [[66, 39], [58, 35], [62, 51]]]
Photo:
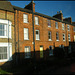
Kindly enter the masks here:
[[[15, 12], [15, 10], [19, 10], [19, 11], [23, 11], [23, 12], [32, 13], [31, 10], [11, 5], [11, 3], [9, 1], [0, 1], [0, 9], [7, 10], [7, 11], [10, 11], [10, 12]], [[68, 22], [62, 21], [60, 19], [48, 16], [48, 15], [44, 15], [44, 14], [41, 14], [41, 13], [38, 13], [38, 12], [34, 12], [34, 14], [45, 17], [45, 18], [48, 18], [48, 19], [52, 19], [52, 20], [55, 20], [55, 21], [59, 21], [59, 22], [62, 22], [62, 23], [70, 24]], [[70, 25], [73, 25], [73, 24], [70, 24]]]

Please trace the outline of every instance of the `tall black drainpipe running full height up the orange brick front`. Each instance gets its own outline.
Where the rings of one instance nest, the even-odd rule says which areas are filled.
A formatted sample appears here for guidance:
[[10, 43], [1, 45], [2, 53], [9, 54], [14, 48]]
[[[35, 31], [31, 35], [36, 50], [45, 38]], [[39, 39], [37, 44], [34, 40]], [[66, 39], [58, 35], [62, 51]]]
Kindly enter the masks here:
[[34, 35], [34, 11], [33, 11], [33, 0], [32, 0], [32, 25], [33, 25], [33, 49], [34, 49], [34, 70], [36, 69], [36, 57], [35, 57], [35, 35]]

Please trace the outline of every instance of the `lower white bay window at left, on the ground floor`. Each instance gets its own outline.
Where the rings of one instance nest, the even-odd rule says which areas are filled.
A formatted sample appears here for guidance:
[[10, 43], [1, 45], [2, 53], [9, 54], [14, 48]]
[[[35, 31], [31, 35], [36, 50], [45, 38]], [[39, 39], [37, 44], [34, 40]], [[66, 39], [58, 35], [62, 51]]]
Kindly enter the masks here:
[[11, 43], [0, 43], [0, 62], [12, 60]]

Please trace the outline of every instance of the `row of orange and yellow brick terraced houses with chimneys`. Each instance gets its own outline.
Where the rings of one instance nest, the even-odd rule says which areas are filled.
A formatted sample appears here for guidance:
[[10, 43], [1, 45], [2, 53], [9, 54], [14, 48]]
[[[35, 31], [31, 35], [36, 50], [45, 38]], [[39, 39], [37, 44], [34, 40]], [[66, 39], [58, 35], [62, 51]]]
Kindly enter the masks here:
[[75, 23], [72, 18], [63, 19], [62, 12], [53, 17], [35, 12], [35, 3], [24, 8], [11, 5], [8, 1], [0, 2], [0, 65], [7, 61], [32, 59], [33, 20], [36, 59], [53, 56], [55, 47], [67, 47], [75, 41]]

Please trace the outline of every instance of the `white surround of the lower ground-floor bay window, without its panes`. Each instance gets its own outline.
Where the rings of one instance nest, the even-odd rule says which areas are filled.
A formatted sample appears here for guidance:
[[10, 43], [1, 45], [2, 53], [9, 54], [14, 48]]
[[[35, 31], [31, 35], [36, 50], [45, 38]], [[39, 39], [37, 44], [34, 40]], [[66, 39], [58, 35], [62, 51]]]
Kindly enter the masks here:
[[0, 47], [7, 47], [7, 59], [1, 59], [0, 62], [11, 61], [12, 60], [12, 44], [0, 43]]

